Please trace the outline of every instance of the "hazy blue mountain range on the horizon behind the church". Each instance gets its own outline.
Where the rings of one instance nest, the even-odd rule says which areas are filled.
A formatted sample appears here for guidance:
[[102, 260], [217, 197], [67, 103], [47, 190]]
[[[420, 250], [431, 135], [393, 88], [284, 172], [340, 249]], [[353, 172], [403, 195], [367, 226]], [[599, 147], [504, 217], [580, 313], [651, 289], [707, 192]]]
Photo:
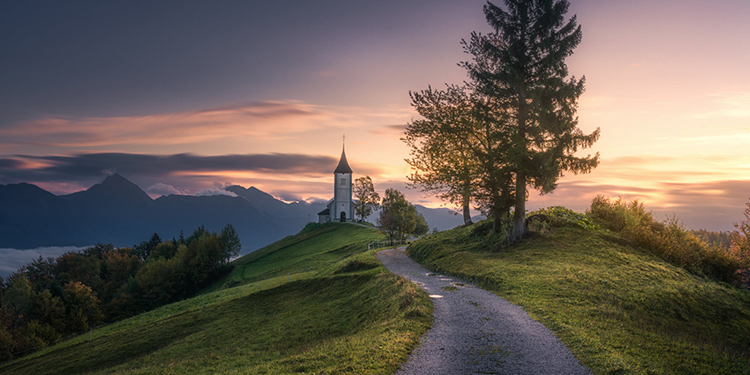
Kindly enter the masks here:
[[[282, 202], [255, 187], [230, 186], [226, 195], [169, 195], [151, 199], [138, 185], [113, 174], [91, 188], [56, 196], [37, 186], [0, 185], [0, 248], [133, 246], [152, 234], [169, 239], [199, 226], [220, 231], [232, 224], [242, 254], [299, 232], [318, 220], [325, 203]], [[450, 229], [461, 219], [446, 208], [417, 206], [430, 228]], [[371, 220], [376, 220], [372, 215]]]

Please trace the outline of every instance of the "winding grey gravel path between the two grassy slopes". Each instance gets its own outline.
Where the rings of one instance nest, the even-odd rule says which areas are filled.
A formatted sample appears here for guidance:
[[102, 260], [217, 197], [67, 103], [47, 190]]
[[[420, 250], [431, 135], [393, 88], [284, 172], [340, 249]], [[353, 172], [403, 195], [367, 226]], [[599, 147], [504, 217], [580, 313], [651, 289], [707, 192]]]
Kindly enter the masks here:
[[470, 283], [430, 273], [404, 248], [377, 257], [424, 289], [434, 306], [432, 329], [396, 374], [591, 374], [522, 308]]

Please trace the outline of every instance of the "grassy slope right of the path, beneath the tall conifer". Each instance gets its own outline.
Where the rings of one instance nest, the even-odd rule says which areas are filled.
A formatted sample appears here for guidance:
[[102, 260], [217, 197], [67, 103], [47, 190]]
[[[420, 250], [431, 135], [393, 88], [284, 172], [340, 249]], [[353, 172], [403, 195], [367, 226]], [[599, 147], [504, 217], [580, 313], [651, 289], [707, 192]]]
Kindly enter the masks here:
[[408, 251], [522, 306], [597, 374], [750, 374], [750, 292], [619, 242], [565, 227], [490, 252], [457, 228]]

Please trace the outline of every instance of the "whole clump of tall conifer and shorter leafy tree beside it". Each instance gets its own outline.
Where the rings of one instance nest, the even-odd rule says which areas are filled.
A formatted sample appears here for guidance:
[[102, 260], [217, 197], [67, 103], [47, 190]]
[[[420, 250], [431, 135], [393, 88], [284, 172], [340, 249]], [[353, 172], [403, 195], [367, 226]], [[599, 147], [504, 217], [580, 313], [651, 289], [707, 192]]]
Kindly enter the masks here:
[[[579, 157], [599, 129], [585, 134], [576, 110], [585, 79], [568, 77], [565, 59], [581, 41], [567, 0], [505, 0], [484, 6], [489, 34], [463, 40], [464, 86], [411, 93], [422, 116], [404, 141], [412, 148], [410, 181], [453, 203], [475, 202], [495, 219], [514, 209], [513, 239], [526, 232], [527, 187], [542, 194], [563, 172], [588, 173], [599, 154]], [[470, 198], [468, 198], [470, 196]], [[468, 211], [465, 208], [465, 211]]]

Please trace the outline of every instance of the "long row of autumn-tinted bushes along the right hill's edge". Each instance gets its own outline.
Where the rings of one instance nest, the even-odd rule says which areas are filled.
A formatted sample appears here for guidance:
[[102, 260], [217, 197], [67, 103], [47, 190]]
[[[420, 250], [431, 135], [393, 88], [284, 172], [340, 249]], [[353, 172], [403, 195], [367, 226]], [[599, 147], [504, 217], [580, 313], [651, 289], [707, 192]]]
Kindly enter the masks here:
[[686, 231], [676, 217], [657, 221], [637, 200], [624, 202], [600, 195], [592, 201], [587, 215], [603, 228], [619, 233], [628, 244], [693, 274], [728, 283], [737, 280], [741, 265], [737, 259]]

